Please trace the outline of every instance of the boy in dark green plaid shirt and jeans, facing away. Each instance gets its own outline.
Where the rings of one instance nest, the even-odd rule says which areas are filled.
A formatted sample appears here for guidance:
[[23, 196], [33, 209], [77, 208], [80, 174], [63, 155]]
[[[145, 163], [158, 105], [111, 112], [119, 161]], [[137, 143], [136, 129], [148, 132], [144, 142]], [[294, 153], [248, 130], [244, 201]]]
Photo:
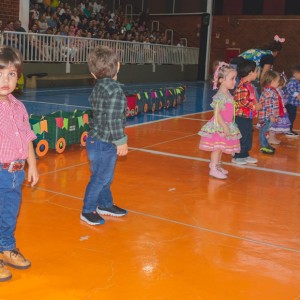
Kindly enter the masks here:
[[128, 152], [124, 133], [127, 100], [121, 84], [116, 81], [120, 63], [113, 50], [95, 48], [88, 56], [88, 66], [97, 82], [89, 97], [93, 120], [86, 142], [92, 174], [80, 218], [90, 225], [100, 225], [105, 222], [100, 215], [127, 214], [114, 205], [110, 190], [117, 155], [124, 156]]

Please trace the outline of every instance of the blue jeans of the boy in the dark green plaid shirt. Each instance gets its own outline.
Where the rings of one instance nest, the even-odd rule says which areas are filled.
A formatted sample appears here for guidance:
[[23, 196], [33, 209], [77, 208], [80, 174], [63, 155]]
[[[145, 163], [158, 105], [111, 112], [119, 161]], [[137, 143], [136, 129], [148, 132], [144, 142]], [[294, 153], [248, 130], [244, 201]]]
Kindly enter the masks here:
[[83, 204], [83, 213], [90, 213], [96, 207], [108, 208], [113, 205], [110, 185], [114, 177], [117, 149], [112, 143], [88, 137], [86, 149], [90, 160], [91, 178], [88, 183]]

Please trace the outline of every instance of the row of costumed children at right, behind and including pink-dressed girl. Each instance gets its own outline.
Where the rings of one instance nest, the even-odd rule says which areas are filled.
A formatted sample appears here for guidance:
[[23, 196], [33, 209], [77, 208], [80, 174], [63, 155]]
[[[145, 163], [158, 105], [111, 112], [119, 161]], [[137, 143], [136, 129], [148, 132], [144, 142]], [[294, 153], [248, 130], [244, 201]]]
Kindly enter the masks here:
[[[221, 166], [222, 153], [231, 154], [238, 165], [255, 164], [251, 157], [253, 120], [258, 117], [260, 152], [274, 154], [272, 145], [280, 144], [277, 133], [298, 137], [293, 130], [300, 106], [300, 66], [294, 66], [293, 76], [287, 80], [284, 73], [267, 71], [261, 78], [262, 92], [257, 99], [253, 82], [258, 77], [258, 67], [252, 60], [242, 59], [237, 68], [220, 62], [214, 73], [214, 89], [211, 107], [214, 116], [205, 124], [199, 135], [199, 148], [211, 151], [209, 174], [226, 179], [228, 171]], [[235, 88], [237, 78], [240, 80]], [[230, 90], [234, 90], [234, 96]]]

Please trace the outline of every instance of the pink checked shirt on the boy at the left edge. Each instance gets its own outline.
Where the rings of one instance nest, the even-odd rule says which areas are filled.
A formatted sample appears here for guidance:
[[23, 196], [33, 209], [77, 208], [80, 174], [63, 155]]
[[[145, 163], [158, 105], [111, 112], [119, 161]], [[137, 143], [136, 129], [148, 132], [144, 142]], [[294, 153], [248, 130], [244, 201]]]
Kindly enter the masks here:
[[23, 103], [8, 95], [8, 101], [0, 101], [0, 120], [0, 163], [27, 159], [29, 143], [36, 136]]

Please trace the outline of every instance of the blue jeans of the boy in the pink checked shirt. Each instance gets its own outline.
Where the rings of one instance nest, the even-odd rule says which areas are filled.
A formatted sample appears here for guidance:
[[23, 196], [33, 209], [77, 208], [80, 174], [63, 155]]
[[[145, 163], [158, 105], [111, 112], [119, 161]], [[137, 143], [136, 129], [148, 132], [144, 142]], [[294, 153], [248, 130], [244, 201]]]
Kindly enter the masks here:
[[0, 251], [16, 248], [14, 236], [25, 172], [9, 173], [0, 166]]

